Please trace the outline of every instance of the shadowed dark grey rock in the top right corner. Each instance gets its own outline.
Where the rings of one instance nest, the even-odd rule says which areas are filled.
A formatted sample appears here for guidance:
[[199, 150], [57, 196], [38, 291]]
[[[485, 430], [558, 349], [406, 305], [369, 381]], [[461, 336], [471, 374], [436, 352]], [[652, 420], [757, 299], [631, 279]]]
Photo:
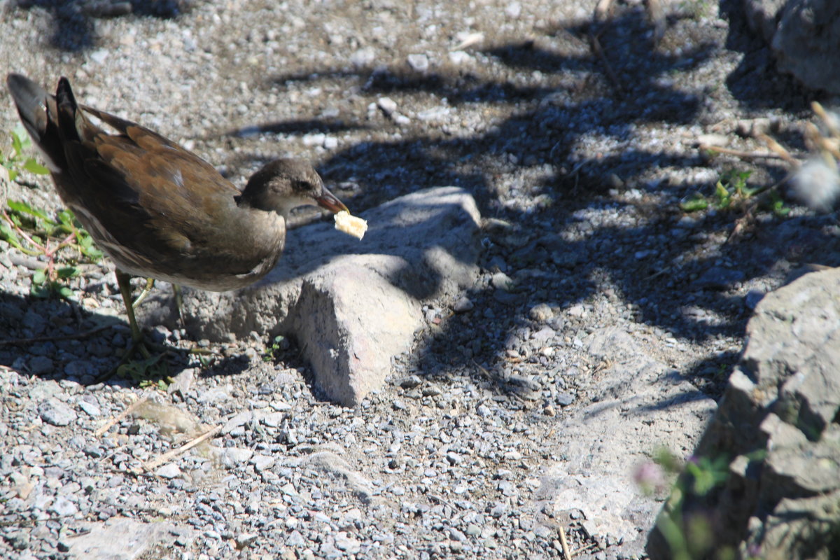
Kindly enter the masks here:
[[770, 44], [780, 71], [806, 87], [840, 93], [840, 3], [743, 0], [750, 26]]

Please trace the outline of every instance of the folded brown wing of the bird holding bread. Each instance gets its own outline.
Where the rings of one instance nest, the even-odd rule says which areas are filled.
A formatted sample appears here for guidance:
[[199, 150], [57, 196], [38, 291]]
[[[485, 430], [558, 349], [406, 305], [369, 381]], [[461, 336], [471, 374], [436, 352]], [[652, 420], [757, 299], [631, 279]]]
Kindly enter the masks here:
[[[193, 254], [211, 244], [215, 218], [239, 189], [213, 165], [148, 128], [80, 106], [78, 141], [65, 143], [76, 204], [115, 241], [149, 259]], [[87, 114], [116, 133], [97, 127]]]

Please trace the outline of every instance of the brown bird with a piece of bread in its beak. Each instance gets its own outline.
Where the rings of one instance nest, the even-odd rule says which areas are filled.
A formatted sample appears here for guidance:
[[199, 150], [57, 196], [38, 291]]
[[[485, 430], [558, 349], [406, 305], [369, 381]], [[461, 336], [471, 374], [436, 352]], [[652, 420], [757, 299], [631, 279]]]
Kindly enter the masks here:
[[293, 208], [347, 210], [300, 160], [271, 161], [240, 191], [160, 134], [76, 103], [64, 77], [55, 96], [19, 74], [7, 84], [61, 200], [116, 264], [135, 343], [130, 276], [234, 290], [274, 268]]

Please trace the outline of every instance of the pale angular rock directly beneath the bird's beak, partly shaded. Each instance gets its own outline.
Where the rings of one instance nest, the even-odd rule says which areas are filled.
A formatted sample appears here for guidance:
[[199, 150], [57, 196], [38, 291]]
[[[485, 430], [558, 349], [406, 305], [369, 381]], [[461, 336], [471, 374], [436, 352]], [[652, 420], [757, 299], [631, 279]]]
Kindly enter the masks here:
[[257, 284], [185, 290], [187, 330], [212, 341], [296, 338], [328, 397], [358, 404], [410, 348], [423, 302], [472, 285], [480, 250], [475, 201], [457, 187], [417, 191], [361, 217], [370, 225], [362, 241], [318, 222], [288, 233], [280, 263]]

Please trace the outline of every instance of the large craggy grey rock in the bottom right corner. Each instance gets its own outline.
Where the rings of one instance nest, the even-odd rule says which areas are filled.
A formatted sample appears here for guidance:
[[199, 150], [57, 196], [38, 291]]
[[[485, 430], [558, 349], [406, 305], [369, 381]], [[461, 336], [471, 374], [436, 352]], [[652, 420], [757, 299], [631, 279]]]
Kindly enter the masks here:
[[[840, 270], [811, 273], [765, 296], [748, 343], [695, 456], [648, 540], [676, 556], [674, 535], [708, 536], [691, 557], [832, 558], [840, 550]], [[670, 544], [669, 544], [670, 542]]]

